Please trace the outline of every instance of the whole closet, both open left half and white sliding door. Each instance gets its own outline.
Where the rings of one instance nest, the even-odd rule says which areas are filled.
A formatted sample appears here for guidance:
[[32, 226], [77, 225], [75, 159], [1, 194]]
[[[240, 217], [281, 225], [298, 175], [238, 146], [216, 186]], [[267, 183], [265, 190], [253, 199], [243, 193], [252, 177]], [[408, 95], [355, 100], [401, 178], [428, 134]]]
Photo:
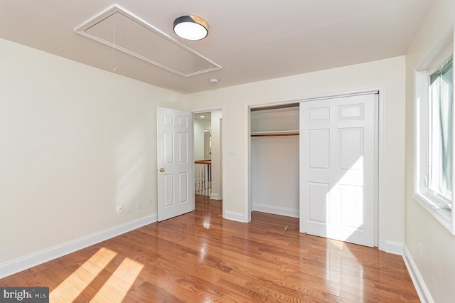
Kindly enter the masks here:
[[380, 100], [367, 90], [249, 107], [249, 218], [251, 211], [299, 218], [301, 233], [379, 246]]

